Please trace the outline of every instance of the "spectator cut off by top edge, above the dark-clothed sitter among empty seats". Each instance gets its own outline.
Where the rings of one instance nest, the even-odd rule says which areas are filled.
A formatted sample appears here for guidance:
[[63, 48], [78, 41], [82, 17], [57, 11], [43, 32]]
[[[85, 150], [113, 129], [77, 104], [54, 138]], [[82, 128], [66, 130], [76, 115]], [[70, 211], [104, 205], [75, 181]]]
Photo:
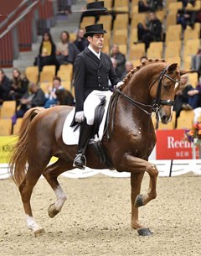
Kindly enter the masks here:
[[155, 12], [157, 9], [163, 8], [162, 0], [139, 0], [138, 11], [144, 13], [147, 11]]

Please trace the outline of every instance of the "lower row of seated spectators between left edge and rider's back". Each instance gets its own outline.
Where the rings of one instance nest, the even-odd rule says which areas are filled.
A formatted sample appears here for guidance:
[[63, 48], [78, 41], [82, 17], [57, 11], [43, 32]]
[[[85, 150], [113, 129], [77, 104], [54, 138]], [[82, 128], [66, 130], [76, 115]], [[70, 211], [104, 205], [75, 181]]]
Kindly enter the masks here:
[[73, 95], [61, 86], [59, 76], [54, 77], [53, 86], [47, 84], [47, 91], [49, 92], [45, 94], [37, 83], [28, 81], [16, 68], [13, 69], [12, 80], [6, 76], [3, 69], [0, 69], [0, 107], [3, 102], [16, 101], [13, 124], [16, 123], [17, 118], [23, 118], [24, 113], [31, 107], [75, 105]]

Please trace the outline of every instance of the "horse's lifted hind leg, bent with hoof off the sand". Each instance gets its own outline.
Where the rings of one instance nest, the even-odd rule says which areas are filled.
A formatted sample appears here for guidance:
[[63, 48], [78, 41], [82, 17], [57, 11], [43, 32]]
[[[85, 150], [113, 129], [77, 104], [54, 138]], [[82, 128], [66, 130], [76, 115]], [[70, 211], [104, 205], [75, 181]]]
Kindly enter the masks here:
[[61, 211], [61, 208], [64, 205], [64, 201], [66, 201], [67, 198], [61, 186], [59, 185], [57, 177], [64, 171], [70, 170], [72, 168], [72, 162], [67, 162], [64, 159], [58, 159], [53, 165], [49, 165], [44, 170], [44, 178], [48, 181], [57, 197], [56, 201], [49, 206], [49, 217], [54, 217]]

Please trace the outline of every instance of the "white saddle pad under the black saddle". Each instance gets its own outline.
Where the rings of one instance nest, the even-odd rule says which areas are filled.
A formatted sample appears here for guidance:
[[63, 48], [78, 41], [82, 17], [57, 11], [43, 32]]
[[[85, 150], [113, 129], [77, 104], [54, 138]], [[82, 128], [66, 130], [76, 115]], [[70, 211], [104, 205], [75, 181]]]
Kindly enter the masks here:
[[[112, 92], [108, 91], [108, 94], [106, 96], [105, 112], [101, 121], [101, 125], [99, 127], [99, 133], [98, 133], [99, 137], [96, 137], [95, 139], [90, 140], [90, 144], [92, 144], [94, 140], [97, 140], [97, 139], [101, 140], [103, 136], [104, 127], [106, 123], [106, 114], [107, 114], [108, 105], [111, 99], [111, 95], [112, 95]], [[63, 138], [64, 144], [67, 144], [67, 145], [77, 145], [79, 140], [80, 128], [77, 128], [74, 131], [75, 127], [70, 127], [70, 124], [72, 123], [74, 116], [75, 116], [75, 107], [71, 110], [71, 112], [69, 113], [69, 115], [67, 116], [64, 122], [62, 138]]]

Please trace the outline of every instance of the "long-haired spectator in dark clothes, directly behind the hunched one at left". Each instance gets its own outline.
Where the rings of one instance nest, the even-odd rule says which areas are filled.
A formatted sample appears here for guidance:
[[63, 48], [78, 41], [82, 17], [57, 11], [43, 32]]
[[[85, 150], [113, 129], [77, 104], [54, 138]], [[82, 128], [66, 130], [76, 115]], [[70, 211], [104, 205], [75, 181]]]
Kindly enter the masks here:
[[13, 69], [13, 80], [11, 85], [11, 91], [9, 92], [9, 97], [16, 101], [17, 106], [20, 103], [21, 97], [28, 90], [28, 79], [26, 77], [21, 77], [21, 72], [18, 69]]

